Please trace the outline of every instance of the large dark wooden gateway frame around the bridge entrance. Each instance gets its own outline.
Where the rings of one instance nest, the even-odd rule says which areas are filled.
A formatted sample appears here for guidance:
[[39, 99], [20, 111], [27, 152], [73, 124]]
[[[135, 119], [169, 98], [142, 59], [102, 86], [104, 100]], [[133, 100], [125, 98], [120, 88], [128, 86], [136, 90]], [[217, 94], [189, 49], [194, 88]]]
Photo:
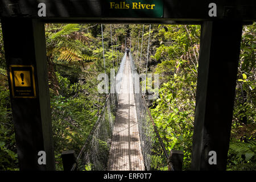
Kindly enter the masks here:
[[[225, 170], [242, 24], [255, 21], [255, 1], [164, 0], [163, 18], [102, 15], [102, 2], [0, 0], [8, 73], [10, 65], [35, 68], [37, 97], [13, 98], [10, 93], [20, 170], [55, 169], [44, 35], [44, 23], [54, 22], [201, 24], [192, 169]], [[208, 14], [212, 2], [217, 5], [214, 17]], [[46, 17], [38, 17], [39, 3], [46, 4]], [[38, 164], [42, 150], [46, 165]], [[209, 151], [217, 152], [216, 165], [208, 163]]]

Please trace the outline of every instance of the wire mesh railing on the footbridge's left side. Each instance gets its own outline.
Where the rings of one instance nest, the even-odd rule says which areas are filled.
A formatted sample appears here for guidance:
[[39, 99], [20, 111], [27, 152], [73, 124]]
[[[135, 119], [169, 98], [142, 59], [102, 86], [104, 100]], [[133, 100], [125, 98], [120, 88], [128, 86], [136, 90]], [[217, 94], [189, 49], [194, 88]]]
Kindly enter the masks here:
[[90, 131], [72, 170], [104, 171], [108, 168], [108, 158], [112, 139], [117, 95], [109, 93], [97, 122]]

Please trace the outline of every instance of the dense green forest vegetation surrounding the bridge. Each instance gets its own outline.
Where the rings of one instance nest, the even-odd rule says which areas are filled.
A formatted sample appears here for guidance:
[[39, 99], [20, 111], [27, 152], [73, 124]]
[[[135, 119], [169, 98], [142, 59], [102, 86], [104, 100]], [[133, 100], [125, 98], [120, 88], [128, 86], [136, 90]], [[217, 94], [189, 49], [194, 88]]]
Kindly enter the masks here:
[[[255, 26], [243, 27], [228, 170], [255, 170]], [[104, 25], [106, 73], [117, 71], [130, 45], [137, 68], [146, 69], [149, 26]], [[125, 38], [128, 38], [127, 41]], [[193, 120], [200, 46], [200, 26], [152, 25], [148, 72], [159, 73], [157, 100], [150, 111], [168, 151], [184, 151], [184, 170], [191, 165]], [[104, 73], [100, 24], [46, 24], [47, 64], [51, 97], [56, 169], [63, 150], [78, 153], [97, 121], [105, 94], [97, 92], [97, 75]], [[113, 59], [112, 59], [113, 44]], [[18, 169], [14, 127], [0, 28], [0, 170]], [[167, 169], [156, 142], [152, 169]]]

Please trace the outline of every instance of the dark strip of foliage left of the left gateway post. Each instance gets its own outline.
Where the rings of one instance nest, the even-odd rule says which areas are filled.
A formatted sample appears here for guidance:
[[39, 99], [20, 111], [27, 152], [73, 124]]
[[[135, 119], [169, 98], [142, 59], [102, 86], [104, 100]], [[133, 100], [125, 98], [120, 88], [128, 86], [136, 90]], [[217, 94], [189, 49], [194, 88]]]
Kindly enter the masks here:
[[18, 170], [13, 117], [11, 115], [2, 28], [0, 24], [0, 171]]

